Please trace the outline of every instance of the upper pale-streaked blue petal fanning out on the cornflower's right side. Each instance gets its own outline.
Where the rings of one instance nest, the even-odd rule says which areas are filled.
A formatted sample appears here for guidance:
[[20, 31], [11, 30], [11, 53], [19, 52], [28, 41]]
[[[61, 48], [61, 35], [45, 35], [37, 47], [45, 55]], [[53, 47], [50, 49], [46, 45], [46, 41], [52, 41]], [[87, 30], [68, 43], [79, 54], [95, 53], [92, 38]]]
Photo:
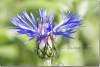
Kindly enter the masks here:
[[81, 18], [74, 14], [68, 14], [64, 17], [62, 22], [55, 27], [55, 30], [59, 30], [60, 28], [77, 28], [80, 26]]

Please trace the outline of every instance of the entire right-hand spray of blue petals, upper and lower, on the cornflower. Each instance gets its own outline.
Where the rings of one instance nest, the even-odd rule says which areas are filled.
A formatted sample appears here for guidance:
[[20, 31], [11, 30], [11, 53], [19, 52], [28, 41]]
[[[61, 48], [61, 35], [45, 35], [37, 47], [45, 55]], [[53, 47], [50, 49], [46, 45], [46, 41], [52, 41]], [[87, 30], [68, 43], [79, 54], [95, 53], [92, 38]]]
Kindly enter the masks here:
[[[80, 27], [80, 17], [74, 14], [69, 13], [64, 17], [62, 22], [54, 27], [53, 34], [54, 35], [62, 35], [67, 38], [73, 38], [70, 34], [75, 33], [75, 28]], [[65, 29], [66, 31], [62, 32]]]

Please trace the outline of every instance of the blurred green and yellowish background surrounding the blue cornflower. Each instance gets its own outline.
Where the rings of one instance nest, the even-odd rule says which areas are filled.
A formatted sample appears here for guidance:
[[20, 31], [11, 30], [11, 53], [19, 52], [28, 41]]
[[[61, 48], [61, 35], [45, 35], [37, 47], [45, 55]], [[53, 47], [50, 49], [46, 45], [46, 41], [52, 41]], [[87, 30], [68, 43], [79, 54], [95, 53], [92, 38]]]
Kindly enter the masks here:
[[[59, 52], [52, 61], [57, 66], [97, 66], [99, 65], [99, 32], [97, 0], [0, 0], [0, 66], [43, 66], [35, 52], [35, 39], [24, 44], [29, 38], [18, 36], [12, 30], [10, 19], [23, 10], [37, 16], [39, 8], [55, 13], [55, 23], [59, 23], [62, 13], [69, 9], [83, 17], [83, 26], [73, 36], [75, 39], [56, 37]], [[35, 16], [35, 17], [36, 17]]]

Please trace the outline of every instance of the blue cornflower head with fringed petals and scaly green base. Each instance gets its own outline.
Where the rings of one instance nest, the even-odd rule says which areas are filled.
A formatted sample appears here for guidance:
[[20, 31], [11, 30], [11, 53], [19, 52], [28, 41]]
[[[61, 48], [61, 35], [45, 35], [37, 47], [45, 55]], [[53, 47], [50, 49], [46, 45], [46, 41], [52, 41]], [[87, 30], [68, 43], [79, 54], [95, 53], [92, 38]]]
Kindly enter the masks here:
[[59, 24], [54, 24], [54, 15], [49, 16], [45, 9], [39, 9], [39, 18], [38, 21], [32, 13], [23, 11], [13, 17], [11, 22], [16, 26], [17, 32], [28, 35], [29, 40], [37, 38], [37, 54], [41, 58], [55, 56], [54, 36], [73, 38], [70, 34], [76, 32], [75, 29], [80, 27], [81, 21], [78, 15], [68, 12]]

